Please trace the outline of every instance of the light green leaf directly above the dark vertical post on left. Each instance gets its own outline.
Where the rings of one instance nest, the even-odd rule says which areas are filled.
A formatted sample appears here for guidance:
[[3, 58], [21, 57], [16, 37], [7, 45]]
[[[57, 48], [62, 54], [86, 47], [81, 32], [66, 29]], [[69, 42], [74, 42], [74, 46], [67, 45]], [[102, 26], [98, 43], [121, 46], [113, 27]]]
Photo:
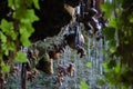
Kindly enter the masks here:
[[17, 53], [17, 57], [14, 58], [14, 60], [18, 62], [28, 62], [27, 56], [22, 51], [19, 51]]

